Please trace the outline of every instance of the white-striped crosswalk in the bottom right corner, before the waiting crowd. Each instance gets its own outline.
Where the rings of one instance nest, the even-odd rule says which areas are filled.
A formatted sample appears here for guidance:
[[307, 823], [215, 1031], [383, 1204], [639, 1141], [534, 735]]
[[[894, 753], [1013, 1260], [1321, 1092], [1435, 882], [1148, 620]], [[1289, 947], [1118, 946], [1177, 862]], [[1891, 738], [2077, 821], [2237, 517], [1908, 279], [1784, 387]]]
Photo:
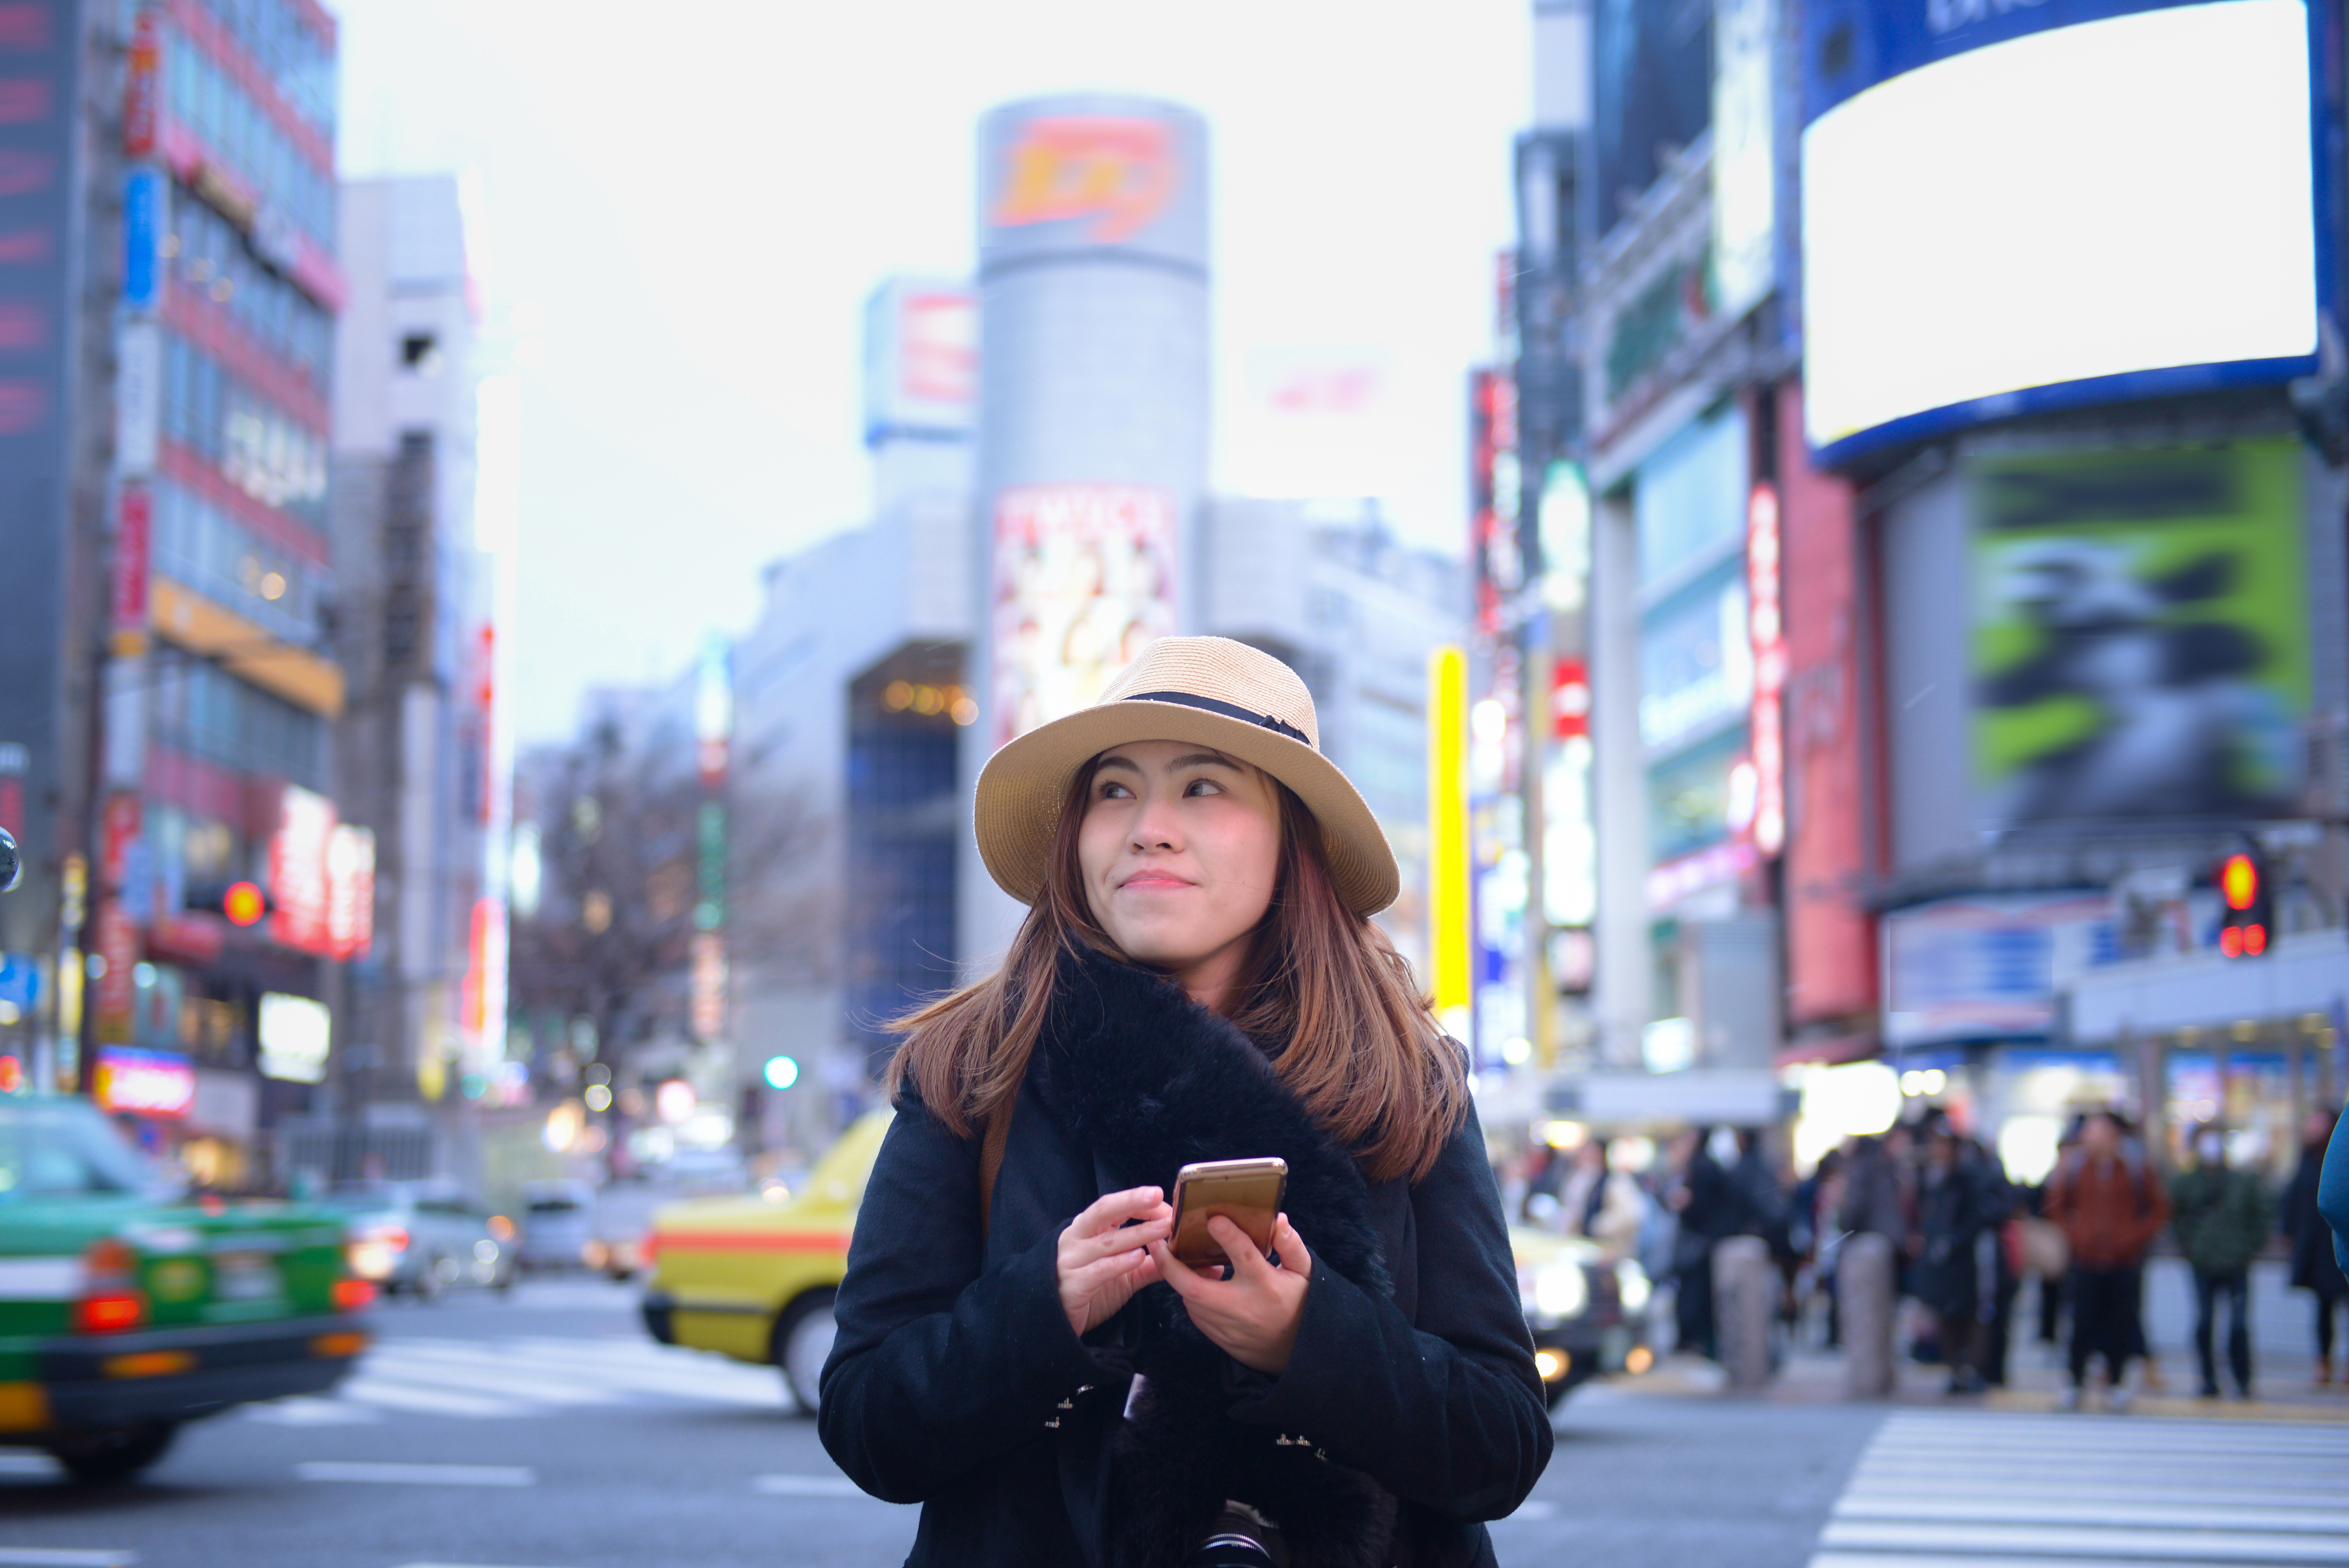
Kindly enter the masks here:
[[1811, 1568], [2349, 1568], [2349, 1427], [1884, 1420]]

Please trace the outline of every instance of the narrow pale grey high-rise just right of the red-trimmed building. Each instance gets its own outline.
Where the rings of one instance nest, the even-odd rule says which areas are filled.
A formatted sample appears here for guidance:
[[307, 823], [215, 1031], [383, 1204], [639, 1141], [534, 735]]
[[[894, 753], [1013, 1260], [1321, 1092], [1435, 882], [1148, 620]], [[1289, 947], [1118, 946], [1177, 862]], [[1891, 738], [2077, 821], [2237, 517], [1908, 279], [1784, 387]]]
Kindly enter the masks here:
[[[477, 345], [449, 176], [341, 188], [350, 279], [336, 338], [336, 725], [345, 815], [373, 824], [373, 951], [350, 967], [343, 1087], [439, 1096], [484, 1033], [465, 1016], [493, 805], [491, 568], [474, 533]], [[503, 1047], [503, 1021], [489, 1047]]]

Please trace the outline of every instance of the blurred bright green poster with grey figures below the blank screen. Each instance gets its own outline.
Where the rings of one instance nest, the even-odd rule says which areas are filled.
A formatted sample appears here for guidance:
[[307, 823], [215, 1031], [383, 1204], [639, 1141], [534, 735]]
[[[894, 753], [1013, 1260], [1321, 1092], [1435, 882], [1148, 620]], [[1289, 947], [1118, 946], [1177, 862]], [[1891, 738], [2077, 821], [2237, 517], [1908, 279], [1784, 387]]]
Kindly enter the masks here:
[[1978, 460], [1973, 761], [1999, 826], [2279, 817], [2300, 791], [2300, 451]]

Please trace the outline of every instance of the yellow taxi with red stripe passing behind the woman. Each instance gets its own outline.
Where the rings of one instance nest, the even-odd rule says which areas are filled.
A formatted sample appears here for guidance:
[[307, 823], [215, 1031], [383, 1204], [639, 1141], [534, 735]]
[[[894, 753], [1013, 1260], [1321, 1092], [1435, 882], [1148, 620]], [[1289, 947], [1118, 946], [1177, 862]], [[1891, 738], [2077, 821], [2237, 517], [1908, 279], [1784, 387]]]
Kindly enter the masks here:
[[[883, 1108], [853, 1122], [782, 1202], [705, 1197], [655, 1211], [644, 1239], [653, 1268], [644, 1326], [653, 1338], [778, 1366], [792, 1399], [813, 1413], [832, 1354], [832, 1296], [848, 1272], [848, 1232], [890, 1115]], [[1649, 1286], [1637, 1263], [1522, 1225], [1508, 1239], [1553, 1406], [1586, 1378], [1647, 1368]]]

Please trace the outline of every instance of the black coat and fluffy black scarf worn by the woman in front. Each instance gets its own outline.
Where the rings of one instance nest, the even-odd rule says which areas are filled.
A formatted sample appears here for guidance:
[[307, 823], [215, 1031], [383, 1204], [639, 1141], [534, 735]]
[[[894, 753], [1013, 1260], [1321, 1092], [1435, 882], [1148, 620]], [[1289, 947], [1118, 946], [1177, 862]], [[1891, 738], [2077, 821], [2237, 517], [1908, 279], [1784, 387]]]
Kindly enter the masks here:
[[[1231, 1361], [1163, 1284], [1078, 1340], [1055, 1279], [1078, 1209], [1252, 1155], [1290, 1162], [1313, 1251], [1287, 1371]], [[923, 1505], [909, 1563], [1177, 1563], [1224, 1498], [1280, 1521], [1299, 1568], [1494, 1561], [1480, 1521], [1553, 1434], [1473, 1115], [1423, 1181], [1372, 1188], [1231, 1023], [1088, 955], [1062, 962], [984, 1244], [977, 1157], [900, 1101], [834, 1303], [824, 1448]]]

